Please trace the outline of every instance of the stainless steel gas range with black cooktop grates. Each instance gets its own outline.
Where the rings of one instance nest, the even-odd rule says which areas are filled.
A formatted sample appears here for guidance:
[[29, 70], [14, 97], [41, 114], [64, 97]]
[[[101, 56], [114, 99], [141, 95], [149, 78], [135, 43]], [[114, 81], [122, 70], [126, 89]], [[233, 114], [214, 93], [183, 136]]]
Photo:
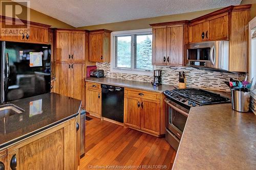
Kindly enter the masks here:
[[163, 93], [167, 108], [165, 138], [176, 151], [191, 107], [230, 102], [220, 94], [196, 88], [166, 90]]

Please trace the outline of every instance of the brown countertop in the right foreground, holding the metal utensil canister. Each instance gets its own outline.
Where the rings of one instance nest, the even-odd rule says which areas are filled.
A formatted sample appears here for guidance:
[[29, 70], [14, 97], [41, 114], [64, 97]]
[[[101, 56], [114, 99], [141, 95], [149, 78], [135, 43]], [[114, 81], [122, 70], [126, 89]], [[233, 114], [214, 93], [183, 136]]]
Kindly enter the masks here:
[[190, 109], [173, 169], [255, 169], [256, 115], [231, 104]]

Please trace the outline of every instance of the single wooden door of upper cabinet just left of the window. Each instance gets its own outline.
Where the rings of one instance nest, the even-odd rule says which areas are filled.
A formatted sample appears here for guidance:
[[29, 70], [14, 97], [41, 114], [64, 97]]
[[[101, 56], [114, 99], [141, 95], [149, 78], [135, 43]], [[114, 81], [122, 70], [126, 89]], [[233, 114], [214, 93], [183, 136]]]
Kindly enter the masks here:
[[90, 34], [89, 36], [89, 61], [103, 61], [103, 33]]

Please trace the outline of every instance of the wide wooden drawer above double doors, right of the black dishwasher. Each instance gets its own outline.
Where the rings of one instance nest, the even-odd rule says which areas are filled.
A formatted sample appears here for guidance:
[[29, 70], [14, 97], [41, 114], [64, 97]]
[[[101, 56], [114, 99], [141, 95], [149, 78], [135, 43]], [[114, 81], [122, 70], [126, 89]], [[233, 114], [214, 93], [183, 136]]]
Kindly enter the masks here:
[[142, 99], [151, 99], [151, 100], [160, 99], [160, 93], [144, 91], [144, 90], [125, 89], [124, 94], [127, 96], [133, 96], [133, 97], [142, 98]]

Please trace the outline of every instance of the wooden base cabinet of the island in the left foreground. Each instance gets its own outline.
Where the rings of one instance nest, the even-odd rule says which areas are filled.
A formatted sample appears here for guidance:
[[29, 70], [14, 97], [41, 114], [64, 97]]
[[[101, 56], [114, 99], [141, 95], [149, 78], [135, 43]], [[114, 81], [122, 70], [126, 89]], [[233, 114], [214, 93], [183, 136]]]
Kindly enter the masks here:
[[[0, 157], [5, 169], [78, 169], [80, 160], [79, 118], [72, 118], [35, 136], [7, 147]], [[0, 153], [1, 154], [1, 153]], [[16, 163], [15, 163], [16, 162]]]

